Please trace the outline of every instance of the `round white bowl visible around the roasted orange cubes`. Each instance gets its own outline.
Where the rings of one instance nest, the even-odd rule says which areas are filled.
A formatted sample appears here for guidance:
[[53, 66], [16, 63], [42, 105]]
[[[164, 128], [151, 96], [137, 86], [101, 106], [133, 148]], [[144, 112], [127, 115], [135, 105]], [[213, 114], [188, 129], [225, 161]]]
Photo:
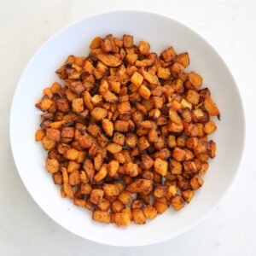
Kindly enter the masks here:
[[[96, 223], [90, 211], [62, 199], [60, 187], [45, 170], [46, 153], [42, 143], [34, 141], [40, 123], [39, 111], [34, 105], [42, 96], [42, 90], [57, 79], [55, 70], [61, 67], [67, 55], [88, 55], [91, 39], [109, 33], [118, 37], [131, 34], [136, 44], [145, 40], [158, 54], [171, 45], [177, 53], [189, 52], [188, 71], [202, 75], [203, 87], [212, 91], [221, 113], [221, 121], [216, 121], [218, 131], [212, 136], [217, 143], [217, 156], [210, 161], [210, 168], [203, 177], [204, 186], [195, 192], [195, 198], [179, 212], [169, 209], [147, 224], [131, 224], [126, 228]], [[169, 17], [142, 11], [114, 11], [86, 17], [49, 38], [27, 64], [15, 90], [10, 116], [15, 165], [34, 201], [56, 223], [74, 234], [114, 246], [165, 241], [198, 224], [230, 187], [241, 160], [244, 135], [241, 97], [223, 59], [187, 26]]]

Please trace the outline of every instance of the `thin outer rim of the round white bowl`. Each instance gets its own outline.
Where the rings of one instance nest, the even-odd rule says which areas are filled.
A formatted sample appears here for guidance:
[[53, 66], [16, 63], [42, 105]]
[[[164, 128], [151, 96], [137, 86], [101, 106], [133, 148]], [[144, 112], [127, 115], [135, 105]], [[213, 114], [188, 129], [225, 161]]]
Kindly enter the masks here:
[[[207, 44], [208, 47], [210, 47], [212, 49], [212, 51], [218, 55], [218, 58], [223, 62], [224, 64], [224, 67], [226, 67], [228, 73], [230, 74], [230, 79], [232, 79], [232, 83], [235, 85], [234, 86], [234, 90], [236, 90], [236, 93], [238, 95], [238, 99], [239, 99], [239, 104], [241, 106], [241, 145], [240, 145], [240, 148], [241, 148], [241, 155], [240, 155], [240, 158], [238, 160], [238, 164], [236, 166], [236, 170], [234, 170], [234, 175], [233, 177], [230, 178], [230, 183], [228, 184], [228, 186], [226, 187], [226, 189], [224, 190], [224, 193], [223, 195], [221, 195], [221, 197], [219, 198], [219, 200], [214, 204], [212, 205], [212, 209], [210, 211], [208, 211], [204, 216], [203, 218], [200, 218], [199, 220], [195, 221], [194, 224], [190, 225], [188, 228], [185, 228], [184, 230], [178, 232], [176, 235], [174, 236], [168, 236], [166, 237], [165, 239], [155, 239], [154, 241], [149, 241], [149, 242], [143, 242], [143, 243], [140, 243], [140, 244], [137, 244], [137, 245], [122, 245], [122, 244], [115, 244], [114, 242], [108, 242], [108, 241], [102, 241], [102, 240], [97, 240], [97, 239], [91, 239], [90, 236], [82, 236], [81, 234], [78, 234], [76, 233], [75, 231], [73, 230], [69, 230], [65, 225], [63, 224], [60, 224], [55, 218], [53, 218], [52, 216], [49, 216], [49, 213], [46, 212], [44, 210], [43, 207], [41, 207], [40, 203], [34, 198], [34, 196], [32, 195], [32, 193], [27, 189], [26, 187], [26, 182], [25, 180], [21, 177], [21, 174], [20, 174], [20, 171], [19, 171], [19, 168], [18, 168], [18, 165], [17, 165], [17, 162], [16, 162], [16, 159], [15, 159], [15, 154], [14, 154], [14, 139], [12, 137], [12, 117], [13, 117], [13, 112], [14, 112], [14, 102], [15, 102], [15, 98], [17, 97], [16, 94], [17, 94], [17, 91], [18, 91], [18, 88], [20, 87], [20, 81], [21, 79], [23, 78], [23, 76], [25, 75], [26, 73], [26, 70], [28, 69], [28, 67], [30, 66], [31, 62], [36, 58], [36, 56], [39, 54], [40, 50], [44, 48], [44, 46], [46, 44], [49, 44], [50, 41], [54, 40], [55, 37], [57, 37], [59, 34], [61, 34], [61, 32], [64, 32], [65, 30], [67, 30], [69, 27], [75, 25], [75, 24], [78, 24], [79, 22], [82, 22], [84, 20], [89, 20], [90, 18], [93, 18], [93, 17], [96, 17], [96, 16], [101, 16], [101, 15], [111, 15], [111, 14], [115, 14], [115, 13], [137, 13], [137, 14], [147, 14], [147, 15], [154, 15], [154, 16], [159, 16], [161, 18], [166, 18], [166, 19], [169, 19], [169, 20], [172, 20], [172, 22], [174, 23], [177, 23], [179, 26], [183, 26], [185, 29], [188, 29], [190, 32], [193, 32], [195, 33], [195, 35], [200, 38], [205, 44]], [[114, 246], [114, 247], [141, 247], [141, 246], [147, 246], [147, 245], [153, 245], [153, 244], [156, 244], [156, 243], [159, 243], [159, 242], [163, 242], [163, 241], [168, 241], [168, 240], [171, 240], [172, 238], [175, 238], [177, 236], [180, 236], [182, 235], [183, 233], [191, 230], [192, 228], [194, 228], [196, 225], [200, 224], [201, 222], [203, 222], [203, 220], [205, 220], [205, 218], [207, 218], [210, 213], [212, 213], [216, 207], [218, 207], [218, 205], [221, 203], [221, 201], [224, 200], [224, 197], [227, 195], [228, 191], [230, 190], [232, 184], [234, 183], [236, 177], [237, 177], [237, 173], [240, 169], [240, 166], [241, 166], [241, 160], [243, 159], [243, 156], [244, 156], [244, 148], [245, 148], [245, 141], [246, 141], [246, 119], [245, 119], [245, 111], [244, 111], [244, 106], [243, 106], [243, 102], [242, 102], [242, 99], [241, 99], [241, 93], [240, 93], [240, 89], [236, 83], [236, 79], [234, 77], [234, 75], [231, 73], [230, 71], [230, 67], [227, 65], [227, 63], [224, 61], [224, 59], [222, 58], [222, 56], [218, 53], [218, 50], [215, 49], [212, 44], [210, 44], [207, 39], [203, 38], [198, 32], [195, 32], [194, 29], [190, 28], [189, 26], [187, 25], [184, 25], [182, 22], [174, 19], [172, 16], [170, 15], [163, 15], [163, 14], [160, 14], [160, 13], [157, 13], [157, 12], [153, 12], [153, 11], [148, 11], [148, 10], [142, 10], [142, 9], [113, 9], [113, 10], [108, 10], [108, 11], [100, 11], [100, 12], [96, 12], [95, 14], [92, 14], [92, 15], [84, 15], [83, 17], [79, 18], [78, 20], [74, 20], [73, 22], [69, 23], [67, 26], [64, 26], [62, 27], [60, 30], [58, 30], [57, 32], [55, 32], [53, 35], [51, 35], [45, 42], [44, 44], [41, 44], [41, 46], [37, 49], [37, 51], [32, 55], [32, 57], [30, 58], [30, 60], [26, 63], [26, 67], [24, 68], [23, 72], [21, 73], [20, 75], [20, 79], [15, 87], [15, 93], [13, 95], [13, 99], [12, 99], [12, 102], [11, 102], [11, 108], [10, 108], [10, 114], [9, 114], [9, 140], [10, 140], [10, 148], [11, 148], [11, 152], [12, 152], [12, 155], [13, 155], [13, 159], [14, 159], [14, 162], [15, 162], [15, 167], [16, 167], [16, 170], [17, 172], [19, 173], [19, 176], [20, 176], [20, 179], [22, 181], [22, 183], [24, 184], [25, 188], [26, 188], [26, 191], [28, 192], [29, 195], [31, 195], [33, 201], [38, 205], [38, 207], [52, 220], [55, 221], [56, 224], [59, 224], [63, 229], [65, 230], [68, 230], [69, 232], [73, 233], [74, 235], [76, 236], [79, 236], [81, 238], [84, 238], [88, 241], [93, 241], [93, 242], [96, 242], [96, 243], [99, 243], [99, 244], [103, 244], [103, 245], [108, 245], [108, 246]]]

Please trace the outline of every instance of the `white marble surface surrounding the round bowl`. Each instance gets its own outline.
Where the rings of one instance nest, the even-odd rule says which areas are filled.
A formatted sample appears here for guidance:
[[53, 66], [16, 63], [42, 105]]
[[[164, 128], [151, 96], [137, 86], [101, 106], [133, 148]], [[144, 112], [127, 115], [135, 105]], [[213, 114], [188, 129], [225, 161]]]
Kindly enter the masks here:
[[[26, 192], [9, 148], [10, 104], [27, 61], [63, 26], [110, 9], [147, 9], [170, 15], [200, 33], [218, 49], [235, 75], [246, 112], [246, 148], [224, 200], [194, 229], [148, 247], [102, 246], [63, 230]], [[255, 255], [255, 9], [253, 0], [1, 1], [0, 255]]]

